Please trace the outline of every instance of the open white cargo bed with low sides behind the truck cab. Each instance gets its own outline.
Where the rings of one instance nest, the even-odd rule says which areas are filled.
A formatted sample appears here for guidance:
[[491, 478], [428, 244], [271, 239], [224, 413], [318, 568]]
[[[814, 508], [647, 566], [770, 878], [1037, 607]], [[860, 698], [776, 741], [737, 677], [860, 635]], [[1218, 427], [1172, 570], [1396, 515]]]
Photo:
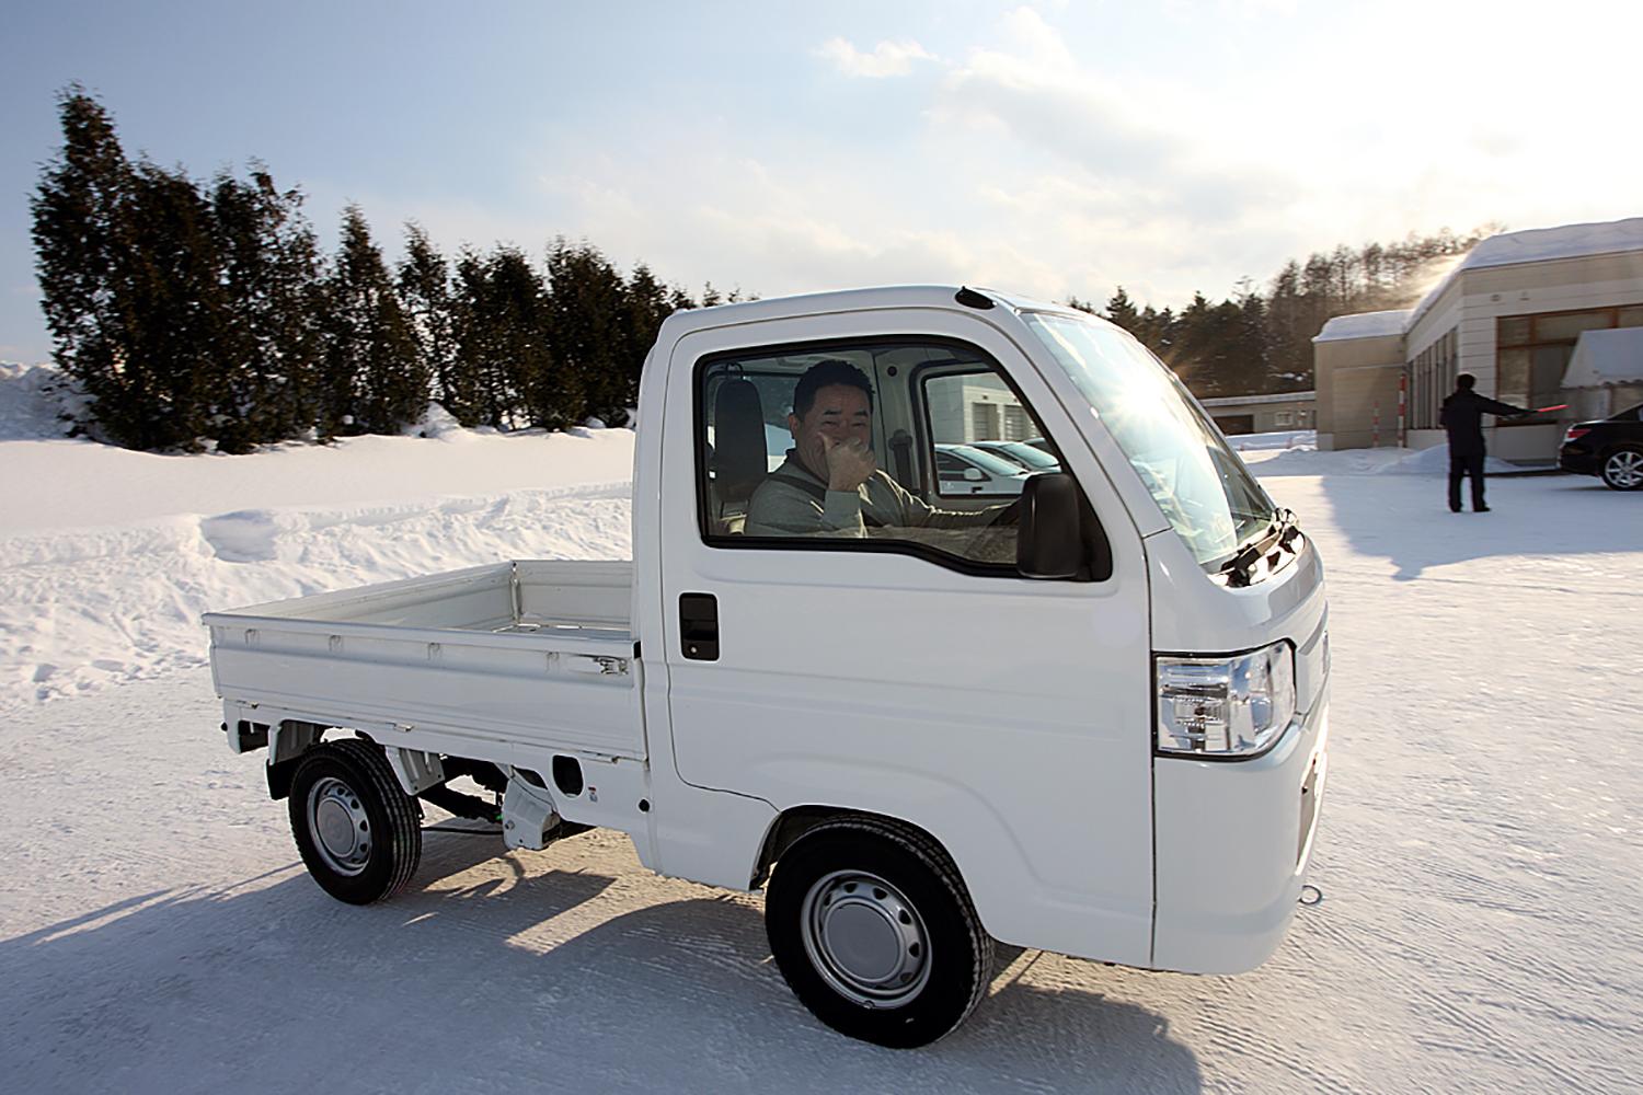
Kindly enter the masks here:
[[373, 734], [642, 758], [631, 596], [633, 563], [513, 561], [205, 624], [228, 701]]

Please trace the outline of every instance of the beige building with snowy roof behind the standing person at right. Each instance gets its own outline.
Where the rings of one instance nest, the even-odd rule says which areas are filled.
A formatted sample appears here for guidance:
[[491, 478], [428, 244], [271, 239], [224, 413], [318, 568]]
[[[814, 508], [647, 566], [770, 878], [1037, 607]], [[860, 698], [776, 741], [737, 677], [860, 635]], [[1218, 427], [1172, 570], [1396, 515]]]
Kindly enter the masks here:
[[[1643, 217], [1490, 236], [1416, 307], [1324, 323], [1313, 338], [1318, 447], [1441, 445], [1443, 399], [1472, 373], [1503, 402], [1572, 404], [1533, 422], [1485, 419], [1492, 455], [1553, 460], [1564, 427], [1599, 402], [1571, 374], [1582, 337], [1640, 327]], [[1623, 397], [1617, 387], [1600, 402]]]

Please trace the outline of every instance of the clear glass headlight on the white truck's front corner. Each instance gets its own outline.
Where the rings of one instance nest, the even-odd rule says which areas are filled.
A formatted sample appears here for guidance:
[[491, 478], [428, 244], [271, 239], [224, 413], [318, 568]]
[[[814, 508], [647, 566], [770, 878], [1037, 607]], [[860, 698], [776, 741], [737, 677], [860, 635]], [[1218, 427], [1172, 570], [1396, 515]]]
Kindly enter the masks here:
[[1295, 717], [1295, 648], [1234, 658], [1158, 657], [1160, 754], [1240, 758], [1265, 752]]

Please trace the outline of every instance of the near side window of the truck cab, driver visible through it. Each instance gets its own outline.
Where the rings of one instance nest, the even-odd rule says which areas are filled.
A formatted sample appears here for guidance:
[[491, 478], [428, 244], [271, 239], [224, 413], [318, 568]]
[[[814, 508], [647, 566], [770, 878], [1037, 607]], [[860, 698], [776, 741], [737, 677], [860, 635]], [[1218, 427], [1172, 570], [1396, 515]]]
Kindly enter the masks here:
[[996, 364], [941, 340], [851, 340], [697, 366], [703, 540], [895, 552], [1015, 576], [1022, 484], [1055, 458]]

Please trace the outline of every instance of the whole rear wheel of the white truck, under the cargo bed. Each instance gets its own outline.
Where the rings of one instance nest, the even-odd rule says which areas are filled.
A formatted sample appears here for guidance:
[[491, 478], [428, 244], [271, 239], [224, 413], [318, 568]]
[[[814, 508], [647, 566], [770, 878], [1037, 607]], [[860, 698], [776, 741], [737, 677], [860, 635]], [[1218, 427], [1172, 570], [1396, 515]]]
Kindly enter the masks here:
[[422, 808], [399, 788], [380, 745], [342, 739], [311, 749], [286, 804], [302, 862], [338, 901], [384, 901], [416, 873]]

